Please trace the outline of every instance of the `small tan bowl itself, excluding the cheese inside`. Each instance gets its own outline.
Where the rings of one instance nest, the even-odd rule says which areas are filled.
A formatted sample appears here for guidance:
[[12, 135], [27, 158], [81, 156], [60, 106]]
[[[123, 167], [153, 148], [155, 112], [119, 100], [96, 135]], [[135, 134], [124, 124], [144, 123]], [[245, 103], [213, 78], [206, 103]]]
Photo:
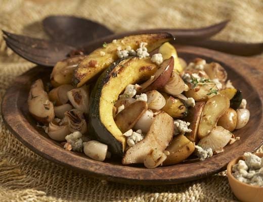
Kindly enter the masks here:
[[[255, 155], [260, 158], [263, 157], [263, 153], [255, 153]], [[241, 156], [232, 160], [227, 168], [228, 181], [232, 191], [243, 202], [261, 202], [263, 200], [263, 187], [240, 182], [232, 175], [232, 166], [237, 164], [239, 160], [245, 160], [245, 157]]]

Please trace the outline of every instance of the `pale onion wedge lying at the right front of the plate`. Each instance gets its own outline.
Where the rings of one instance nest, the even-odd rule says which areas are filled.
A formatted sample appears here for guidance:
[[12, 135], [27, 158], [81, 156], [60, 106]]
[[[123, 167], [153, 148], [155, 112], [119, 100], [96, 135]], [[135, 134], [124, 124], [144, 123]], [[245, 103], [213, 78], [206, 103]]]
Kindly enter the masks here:
[[212, 151], [220, 150], [228, 144], [231, 137], [231, 132], [222, 126], [216, 126], [208, 135], [198, 142], [198, 145], [203, 149], [211, 148]]

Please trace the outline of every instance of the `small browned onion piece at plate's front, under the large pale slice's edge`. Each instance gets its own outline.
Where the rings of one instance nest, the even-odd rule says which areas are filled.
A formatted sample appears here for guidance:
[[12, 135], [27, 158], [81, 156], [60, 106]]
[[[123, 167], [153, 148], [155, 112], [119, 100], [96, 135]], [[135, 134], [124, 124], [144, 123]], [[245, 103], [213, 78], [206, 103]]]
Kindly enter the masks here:
[[157, 148], [152, 149], [144, 159], [144, 166], [146, 168], [156, 168], [161, 165], [166, 158], [167, 156], [161, 150]]

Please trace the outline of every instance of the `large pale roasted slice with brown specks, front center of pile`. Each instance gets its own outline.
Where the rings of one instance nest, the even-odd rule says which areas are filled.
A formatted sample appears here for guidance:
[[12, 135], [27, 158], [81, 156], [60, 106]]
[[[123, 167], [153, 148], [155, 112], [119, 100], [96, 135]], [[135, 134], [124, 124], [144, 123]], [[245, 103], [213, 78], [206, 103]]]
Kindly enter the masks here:
[[[165, 127], [163, 127], [165, 124]], [[166, 113], [156, 115], [146, 137], [130, 147], [122, 159], [122, 164], [143, 163], [146, 155], [154, 148], [160, 151], [168, 146], [173, 136], [173, 119]]]

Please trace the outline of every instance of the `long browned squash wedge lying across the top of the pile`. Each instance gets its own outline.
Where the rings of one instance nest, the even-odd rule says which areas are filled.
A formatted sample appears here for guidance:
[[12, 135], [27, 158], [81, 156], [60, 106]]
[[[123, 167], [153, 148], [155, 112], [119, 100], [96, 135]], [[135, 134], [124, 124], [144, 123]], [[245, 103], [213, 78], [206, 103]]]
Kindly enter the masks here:
[[153, 33], [153, 34], [139, 34], [126, 36], [108, 44], [102, 44], [102, 47], [96, 49], [81, 61], [75, 70], [72, 78], [74, 86], [80, 87], [84, 83], [89, 83], [105, 70], [111, 63], [118, 59], [117, 48], [126, 49], [130, 46], [131, 49], [137, 49], [141, 42], [147, 42], [146, 46], [148, 52], [158, 48], [162, 43], [173, 39], [169, 33]]

